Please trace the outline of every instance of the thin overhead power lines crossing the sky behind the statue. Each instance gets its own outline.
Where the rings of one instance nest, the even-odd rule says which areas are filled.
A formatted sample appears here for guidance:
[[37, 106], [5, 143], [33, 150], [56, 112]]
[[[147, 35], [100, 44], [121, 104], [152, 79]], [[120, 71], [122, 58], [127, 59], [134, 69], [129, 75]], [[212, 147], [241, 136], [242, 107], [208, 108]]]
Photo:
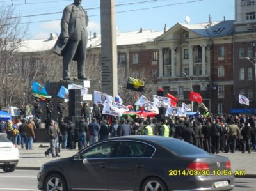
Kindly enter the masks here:
[[[151, 0], [152, 1], [152, 0]], [[159, 1], [159, 0], [153, 0], [153, 1]], [[187, 2], [182, 2], [182, 3], [173, 3], [173, 4], [165, 4], [165, 5], [161, 5], [161, 6], [152, 6], [152, 7], [148, 7], [148, 8], [139, 8], [139, 9], [135, 9], [135, 10], [126, 10], [126, 11], [117, 11], [115, 12], [114, 14], [116, 13], [125, 13], [125, 12], [131, 12], [131, 11], [141, 11], [141, 10], [149, 10], [149, 9], [154, 9], [154, 8], [162, 8], [162, 7], [166, 7], [166, 6], [175, 6], [175, 5], [179, 5], [179, 4], [188, 4], [188, 3], [196, 3], [198, 1], [205, 1], [205, 0], [193, 0], [193, 1], [187, 1]], [[145, 1], [141, 1], [142, 2], [145, 2]], [[148, 2], [148, 1], [147, 1]], [[129, 4], [129, 3], [128, 3]], [[124, 4], [116, 4], [115, 6], [122, 6]], [[87, 10], [94, 10], [94, 9], [98, 9], [100, 7], [97, 7], [97, 8], [89, 8]], [[7, 17], [7, 18], [3, 18], [3, 19], [0, 19], [0, 20], [6, 20], [6, 19], [18, 19], [18, 18], [24, 18], [24, 17], [38, 17], [38, 16], [44, 16], [44, 15], [55, 15], [55, 14], [60, 14], [62, 13], [63, 11], [59, 11], [59, 12], [54, 12], [54, 13], [42, 13], [42, 14], [36, 14], [36, 15], [25, 15], [25, 16], [17, 16], [17, 17]], [[108, 14], [106, 14], [108, 15]], [[100, 16], [100, 14], [98, 15], [90, 15], [88, 17], [96, 17], [96, 16]], [[58, 19], [60, 20], [60, 19]], [[41, 21], [36, 21], [36, 22], [49, 22], [49, 21], [52, 21], [52, 20], [41, 20]], [[24, 22], [22, 24], [31, 24], [31, 23], [35, 23], [35, 22]]]

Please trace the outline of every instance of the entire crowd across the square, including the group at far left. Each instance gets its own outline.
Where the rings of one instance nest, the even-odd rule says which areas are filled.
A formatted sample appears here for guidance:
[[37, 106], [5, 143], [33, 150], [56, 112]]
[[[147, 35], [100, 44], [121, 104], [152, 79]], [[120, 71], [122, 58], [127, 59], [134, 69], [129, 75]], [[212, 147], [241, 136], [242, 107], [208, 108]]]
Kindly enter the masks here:
[[[157, 119], [148, 116], [146, 119], [137, 115], [136, 118], [116, 118], [102, 114], [102, 108], [88, 103], [81, 107], [81, 116], [76, 123], [61, 118], [54, 121], [51, 100], [47, 103], [47, 119], [45, 128], [51, 147], [45, 156], [60, 156], [60, 149], [83, 149], [88, 145], [109, 137], [125, 135], [159, 135], [175, 137], [204, 149], [209, 153], [256, 151], [255, 116], [216, 115], [171, 116]], [[60, 103], [60, 107], [63, 107]], [[21, 148], [33, 149], [34, 129], [38, 121], [36, 117], [22, 120], [0, 120], [0, 132], [6, 132], [8, 139]]]

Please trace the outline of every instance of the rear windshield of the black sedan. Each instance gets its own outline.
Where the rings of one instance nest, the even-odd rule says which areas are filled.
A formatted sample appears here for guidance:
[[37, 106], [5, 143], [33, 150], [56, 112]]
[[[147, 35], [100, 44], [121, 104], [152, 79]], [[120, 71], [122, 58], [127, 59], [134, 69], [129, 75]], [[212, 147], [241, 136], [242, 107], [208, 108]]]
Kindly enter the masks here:
[[158, 144], [180, 156], [207, 154], [206, 151], [185, 141], [163, 141]]

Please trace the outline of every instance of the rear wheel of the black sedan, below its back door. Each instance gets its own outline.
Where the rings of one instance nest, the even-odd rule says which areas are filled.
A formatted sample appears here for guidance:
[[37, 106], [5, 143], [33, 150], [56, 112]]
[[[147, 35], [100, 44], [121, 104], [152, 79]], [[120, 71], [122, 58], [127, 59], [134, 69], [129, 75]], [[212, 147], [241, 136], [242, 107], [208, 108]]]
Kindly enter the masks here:
[[148, 178], [142, 185], [143, 191], [167, 191], [165, 183], [159, 178]]

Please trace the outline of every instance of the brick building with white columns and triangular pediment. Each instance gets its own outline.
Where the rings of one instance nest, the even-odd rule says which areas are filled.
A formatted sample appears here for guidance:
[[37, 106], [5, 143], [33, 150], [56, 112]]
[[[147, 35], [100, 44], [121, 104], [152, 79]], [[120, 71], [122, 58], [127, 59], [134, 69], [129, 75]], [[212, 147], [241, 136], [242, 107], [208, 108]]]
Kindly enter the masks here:
[[[230, 111], [233, 22], [177, 23], [154, 42], [144, 43], [159, 52], [159, 88], [177, 96], [180, 103], [190, 103], [193, 90], [209, 111]], [[197, 106], [193, 104], [193, 111]]]

